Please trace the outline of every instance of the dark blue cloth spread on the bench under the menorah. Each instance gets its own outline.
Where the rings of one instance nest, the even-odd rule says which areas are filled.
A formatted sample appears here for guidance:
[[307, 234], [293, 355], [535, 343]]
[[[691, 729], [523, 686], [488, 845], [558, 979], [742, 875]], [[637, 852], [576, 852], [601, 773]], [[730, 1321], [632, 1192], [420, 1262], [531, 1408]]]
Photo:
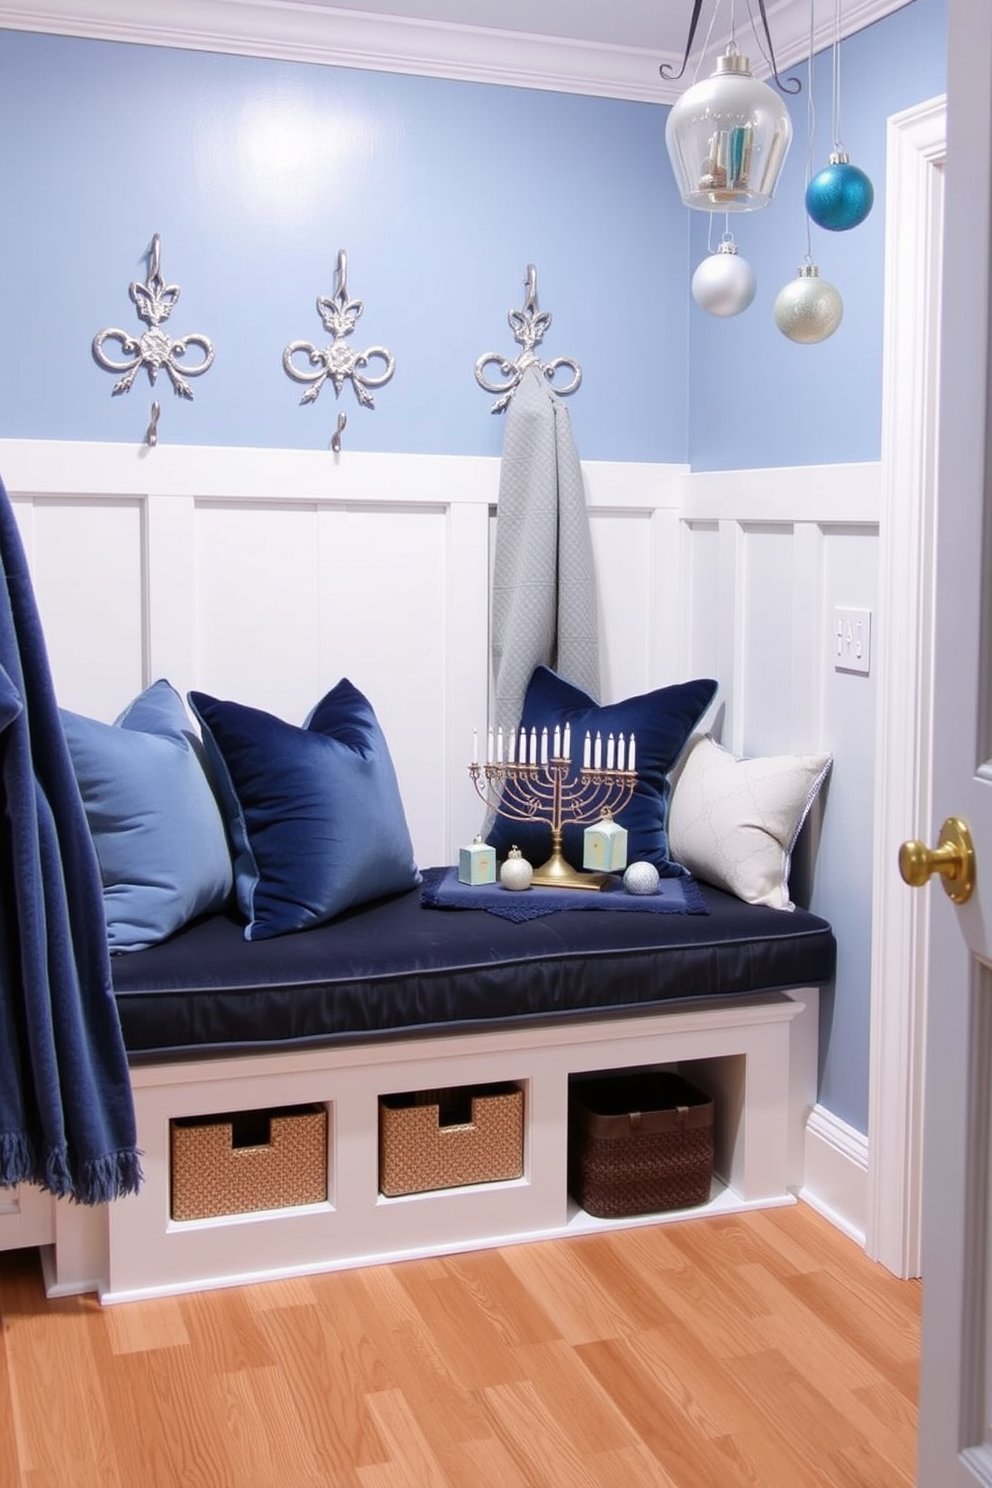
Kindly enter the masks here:
[[596, 888], [504, 888], [460, 884], [457, 868], [425, 868], [421, 903], [428, 909], [486, 909], [524, 924], [561, 909], [640, 909], [654, 915], [705, 915], [709, 911], [693, 878], [662, 878], [653, 894], [628, 894], [622, 875]]

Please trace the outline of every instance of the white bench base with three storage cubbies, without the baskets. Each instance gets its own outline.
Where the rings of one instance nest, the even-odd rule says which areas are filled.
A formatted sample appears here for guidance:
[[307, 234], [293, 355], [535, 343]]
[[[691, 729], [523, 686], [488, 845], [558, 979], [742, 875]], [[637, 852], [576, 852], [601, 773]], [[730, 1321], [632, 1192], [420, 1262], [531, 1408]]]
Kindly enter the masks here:
[[[706, 1205], [601, 1220], [567, 1192], [568, 1079], [680, 1068], [712, 1094]], [[379, 1095], [513, 1080], [525, 1091], [524, 1177], [384, 1198]], [[608, 1021], [370, 1042], [132, 1070], [144, 1186], [106, 1208], [54, 1204], [49, 1296], [104, 1303], [794, 1202], [817, 1092], [817, 991], [769, 992]], [[324, 1103], [327, 1201], [175, 1222], [170, 1120]]]

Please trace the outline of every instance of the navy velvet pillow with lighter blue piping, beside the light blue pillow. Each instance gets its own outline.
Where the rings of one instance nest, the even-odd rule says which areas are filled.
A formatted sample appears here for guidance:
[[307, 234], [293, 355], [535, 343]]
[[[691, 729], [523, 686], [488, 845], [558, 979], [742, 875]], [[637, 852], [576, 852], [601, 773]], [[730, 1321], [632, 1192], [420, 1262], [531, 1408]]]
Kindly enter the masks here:
[[190, 692], [233, 844], [245, 940], [268, 940], [416, 887], [396, 771], [347, 677], [302, 728]]

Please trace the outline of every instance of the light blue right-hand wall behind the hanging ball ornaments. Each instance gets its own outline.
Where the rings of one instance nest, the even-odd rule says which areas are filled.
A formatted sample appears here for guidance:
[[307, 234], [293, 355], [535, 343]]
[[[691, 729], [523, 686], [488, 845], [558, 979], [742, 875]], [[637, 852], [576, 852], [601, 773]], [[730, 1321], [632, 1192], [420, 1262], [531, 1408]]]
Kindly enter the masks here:
[[[913, 0], [840, 48], [842, 138], [852, 164], [875, 185], [875, 205], [860, 228], [811, 226], [814, 262], [843, 298], [834, 335], [796, 345], [775, 326], [775, 296], [806, 256], [808, 68], [788, 98], [793, 146], [775, 201], [759, 213], [735, 213], [730, 228], [757, 274], [759, 290], [741, 315], [708, 315], [689, 295], [692, 272], [706, 256], [708, 216], [692, 213], [686, 281], [690, 299], [689, 458], [696, 470], [830, 464], [877, 460], [882, 430], [882, 311], [885, 269], [885, 122], [889, 115], [944, 92], [944, 0]], [[814, 61], [812, 173], [833, 149], [831, 58]], [[718, 243], [724, 217], [712, 223]]]

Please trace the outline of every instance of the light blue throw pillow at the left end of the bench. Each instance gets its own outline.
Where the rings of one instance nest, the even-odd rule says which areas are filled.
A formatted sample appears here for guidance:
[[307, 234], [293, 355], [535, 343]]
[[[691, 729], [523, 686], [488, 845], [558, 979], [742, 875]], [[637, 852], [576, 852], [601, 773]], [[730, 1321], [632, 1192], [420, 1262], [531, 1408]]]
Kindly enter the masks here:
[[61, 710], [103, 878], [112, 952], [143, 951], [232, 890], [223, 817], [183, 699], [152, 683], [115, 723]]

